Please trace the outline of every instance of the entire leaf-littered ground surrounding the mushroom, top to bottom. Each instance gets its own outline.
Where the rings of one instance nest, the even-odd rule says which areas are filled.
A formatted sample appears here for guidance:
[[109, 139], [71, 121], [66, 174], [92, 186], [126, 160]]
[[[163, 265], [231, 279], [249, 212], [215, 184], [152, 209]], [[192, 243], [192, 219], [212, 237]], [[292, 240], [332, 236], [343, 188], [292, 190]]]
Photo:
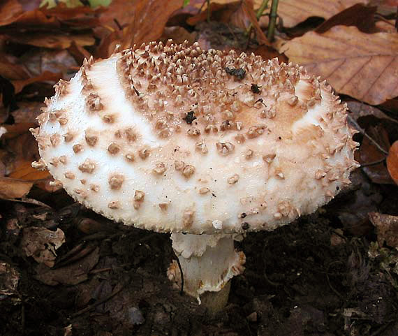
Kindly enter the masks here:
[[[0, 3], [0, 334], [397, 335], [398, 4], [279, 0], [270, 43], [271, 0], [259, 22], [260, 0], [188, 2]], [[112, 223], [30, 166], [29, 127], [57, 80], [118, 44], [168, 38], [298, 63], [342, 95], [360, 132], [351, 186], [238, 243], [246, 271], [212, 318], [168, 282], [168, 235]]]

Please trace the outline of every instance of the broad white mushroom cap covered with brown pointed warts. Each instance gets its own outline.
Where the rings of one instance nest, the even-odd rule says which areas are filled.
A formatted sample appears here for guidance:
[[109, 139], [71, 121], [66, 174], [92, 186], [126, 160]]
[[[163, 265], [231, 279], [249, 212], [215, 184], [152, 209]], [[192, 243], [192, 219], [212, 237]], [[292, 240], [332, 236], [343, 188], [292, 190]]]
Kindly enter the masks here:
[[84, 61], [46, 103], [36, 167], [139, 228], [273, 230], [327, 203], [357, 166], [332, 88], [254, 54], [149, 43]]

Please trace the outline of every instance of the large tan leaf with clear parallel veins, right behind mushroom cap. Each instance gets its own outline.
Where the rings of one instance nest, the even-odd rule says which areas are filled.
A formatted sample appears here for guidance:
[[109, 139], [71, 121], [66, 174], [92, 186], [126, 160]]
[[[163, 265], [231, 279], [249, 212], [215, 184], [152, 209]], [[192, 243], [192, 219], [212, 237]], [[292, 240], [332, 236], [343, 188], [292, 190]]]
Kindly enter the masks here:
[[398, 34], [364, 34], [335, 26], [283, 44], [294, 63], [325, 78], [337, 92], [378, 105], [398, 96]]

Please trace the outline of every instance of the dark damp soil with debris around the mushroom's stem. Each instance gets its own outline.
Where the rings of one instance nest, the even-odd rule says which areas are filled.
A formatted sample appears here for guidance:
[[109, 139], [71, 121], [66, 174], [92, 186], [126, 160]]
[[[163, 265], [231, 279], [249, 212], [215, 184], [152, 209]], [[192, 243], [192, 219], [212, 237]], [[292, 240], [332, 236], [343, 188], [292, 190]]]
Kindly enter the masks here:
[[[390, 190], [378, 192], [386, 207]], [[51, 208], [3, 201], [0, 260], [19, 283], [0, 295], [0, 334], [396, 336], [396, 277], [369, 258], [373, 231], [353, 235], [341, 221], [356, 197], [348, 191], [316, 214], [237, 243], [246, 270], [216, 316], [172, 288], [168, 235], [112, 223], [63, 192], [42, 199]], [[64, 231], [57, 275], [23, 253], [29, 226]]]

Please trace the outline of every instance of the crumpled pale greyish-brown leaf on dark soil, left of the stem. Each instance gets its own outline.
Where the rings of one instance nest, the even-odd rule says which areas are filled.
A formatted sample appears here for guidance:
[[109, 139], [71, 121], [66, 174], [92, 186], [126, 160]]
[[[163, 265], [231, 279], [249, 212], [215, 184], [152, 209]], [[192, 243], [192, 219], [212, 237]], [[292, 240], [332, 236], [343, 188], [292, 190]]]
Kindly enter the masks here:
[[54, 266], [56, 250], [65, 242], [65, 234], [60, 228], [50, 231], [47, 228], [32, 226], [22, 231], [21, 248], [27, 256], [33, 256], [38, 263]]

